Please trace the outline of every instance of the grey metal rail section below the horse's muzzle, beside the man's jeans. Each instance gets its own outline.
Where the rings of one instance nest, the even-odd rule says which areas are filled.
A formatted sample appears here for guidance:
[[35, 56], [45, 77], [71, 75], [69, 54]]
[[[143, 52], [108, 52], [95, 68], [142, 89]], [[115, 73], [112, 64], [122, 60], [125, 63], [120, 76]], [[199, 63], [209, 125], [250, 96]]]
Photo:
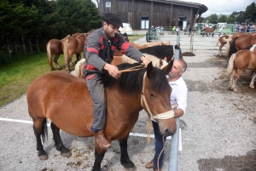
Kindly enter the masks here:
[[179, 143], [179, 118], [175, 118], [177, 130], [172, 135], [171, 152], [169, 157], [168, 171], [178, 171], [178, 143]]

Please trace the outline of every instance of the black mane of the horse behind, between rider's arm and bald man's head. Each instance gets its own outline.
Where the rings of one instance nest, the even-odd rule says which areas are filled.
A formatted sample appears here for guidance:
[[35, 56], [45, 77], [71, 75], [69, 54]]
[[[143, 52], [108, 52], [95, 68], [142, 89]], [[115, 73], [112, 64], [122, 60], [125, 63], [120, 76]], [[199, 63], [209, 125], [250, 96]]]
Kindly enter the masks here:
[[157, 56], [160, 59], [164, 59], [165, 57], [173, 56], [173, 46], [172, 45], [160, 45], [148, 48], [141, 48], [139, 51], [143, 54], [151, 54]]

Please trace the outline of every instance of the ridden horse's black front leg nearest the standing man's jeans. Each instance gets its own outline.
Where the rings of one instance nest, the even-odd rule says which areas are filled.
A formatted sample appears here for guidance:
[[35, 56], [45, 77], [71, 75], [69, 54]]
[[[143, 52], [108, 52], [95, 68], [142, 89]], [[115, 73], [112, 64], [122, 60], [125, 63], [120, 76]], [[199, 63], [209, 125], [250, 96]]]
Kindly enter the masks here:
[[130, 157], [128, 155], [128, 151], [127, 151], [128, 136], [125, 139], [119, 140], [119, 145], [120, 145], [120, 149], [121, 149], [120, 162], [121, 162], [122, 166], [124, 166], [125, 168], [133, 168], [134, 163], [131, 162]]

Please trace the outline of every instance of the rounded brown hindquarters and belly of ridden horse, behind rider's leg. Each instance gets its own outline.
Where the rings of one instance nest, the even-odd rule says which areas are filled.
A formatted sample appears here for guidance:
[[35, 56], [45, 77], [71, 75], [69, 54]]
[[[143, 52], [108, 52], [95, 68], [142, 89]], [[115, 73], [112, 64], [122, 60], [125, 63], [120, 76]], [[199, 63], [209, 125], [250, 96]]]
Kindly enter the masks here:
[[32, 81], [26, 99], [33, 121], [47, 117], [69, 134], [93, 135], [93, 102], [84, 79], [65, 71], [50, 72]]

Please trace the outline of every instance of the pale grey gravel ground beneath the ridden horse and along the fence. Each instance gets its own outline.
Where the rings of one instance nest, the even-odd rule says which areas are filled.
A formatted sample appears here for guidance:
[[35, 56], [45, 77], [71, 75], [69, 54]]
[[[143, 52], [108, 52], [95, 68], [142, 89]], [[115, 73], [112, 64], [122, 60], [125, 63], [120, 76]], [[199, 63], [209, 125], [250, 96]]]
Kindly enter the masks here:
[[[205, 40], [207, 38], [210, 37]], [[231, 92], [227, 88], [229, 76], [224, 57], [215, 56], [217, 50], [195, 50], [194, 53], [195, 56], [184, 57], [188, 70], [183, 78], [189, 94], [187, 112], [181, 117], [183, 150], [179, 151], [179, 170], [255, 171], [256, 90], [248, 88], [248, 77], [242, 77], [238, 92]], [[1, 107], [0, 117], [31, 122], [26, 94]], [[146, 124], [147, 116], [141, 111], [132, 133], [146, 134]], [[0, 134], [0, 170], [75, 171], [90, 170], [93, 166], [93, 138], [82, 139], [61, 132], [64, 144], [73, 152], [72, 157], [64, 158], [55, 150], [49, 130], [49, 140], [44, 145], [49, 159], [40, 161], [31, 123], [0, 120]], [[164, 171], [168, 170], [170, 144], [171, 140], [167, 140]], [[131, 136], [128, 145], [137, 170], [148, 170], [144, 165], [153, 158], [154, 139], [148, 143], [144, 137]], [[119, 151], [118, 142], [113, 141], [103, 159], [103, 170], [125, 170], [119, 162]]]

